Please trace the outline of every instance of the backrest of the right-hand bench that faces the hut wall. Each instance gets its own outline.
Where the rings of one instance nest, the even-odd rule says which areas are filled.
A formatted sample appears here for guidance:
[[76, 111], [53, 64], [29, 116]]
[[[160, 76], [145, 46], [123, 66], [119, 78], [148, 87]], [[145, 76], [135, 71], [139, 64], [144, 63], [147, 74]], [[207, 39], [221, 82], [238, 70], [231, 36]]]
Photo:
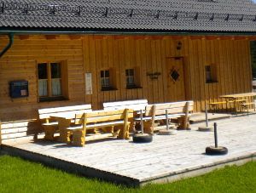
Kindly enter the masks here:
[[166, 110], [168, 111], [168, 114], [185, 113], [186, 104], [188, 104], [187, 111], [193, 111], [194, 101], [192, 100], [150, 104], [146, 106], [145, 116], [166, 115]]

